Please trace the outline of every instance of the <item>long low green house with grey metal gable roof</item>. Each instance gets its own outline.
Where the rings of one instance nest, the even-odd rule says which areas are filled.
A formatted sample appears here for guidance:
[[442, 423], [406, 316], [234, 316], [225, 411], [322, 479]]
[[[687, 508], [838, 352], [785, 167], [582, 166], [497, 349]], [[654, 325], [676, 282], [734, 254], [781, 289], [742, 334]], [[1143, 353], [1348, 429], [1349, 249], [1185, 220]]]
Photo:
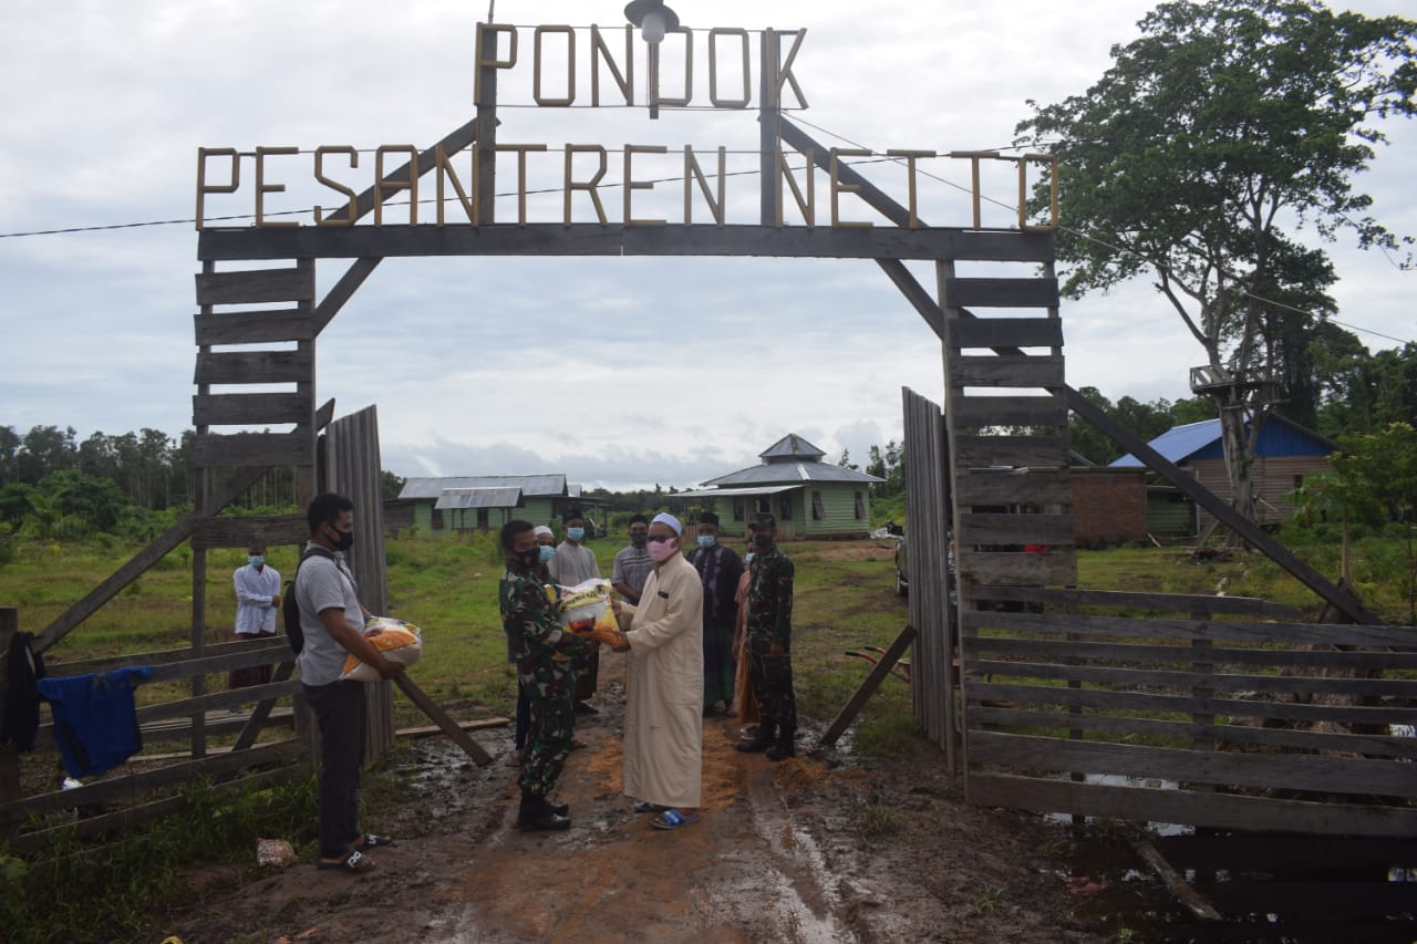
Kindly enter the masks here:
[[495, 532], [514, 517], [548, 524], [580, 493], [564, 475], [452, 475], [404, 482], [398, 503], [412, 526], [429, 534]]

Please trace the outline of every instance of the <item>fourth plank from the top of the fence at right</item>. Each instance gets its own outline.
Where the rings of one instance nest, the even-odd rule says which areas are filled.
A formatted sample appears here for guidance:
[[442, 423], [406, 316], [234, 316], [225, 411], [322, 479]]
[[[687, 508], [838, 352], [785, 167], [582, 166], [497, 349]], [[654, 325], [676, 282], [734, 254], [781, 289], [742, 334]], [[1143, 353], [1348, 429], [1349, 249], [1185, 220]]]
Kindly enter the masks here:
[[1195, 672], [1173, 669], [1132, 669], [1115, 665], [1071, 665], [1050, 662], [1013, 662], [971, 659], [969, 670], [995, 678], [1054, 679], [1091, 682], [1132, 690], [1151, 687], [1206, 687], [1216, 692], [1265, 695], [1346, 695], [1357, 697], [1417, 697], [1417, 682], [1410, 679], [1352, 679], [1306, 675], [1238, 675], [1230, 672]]

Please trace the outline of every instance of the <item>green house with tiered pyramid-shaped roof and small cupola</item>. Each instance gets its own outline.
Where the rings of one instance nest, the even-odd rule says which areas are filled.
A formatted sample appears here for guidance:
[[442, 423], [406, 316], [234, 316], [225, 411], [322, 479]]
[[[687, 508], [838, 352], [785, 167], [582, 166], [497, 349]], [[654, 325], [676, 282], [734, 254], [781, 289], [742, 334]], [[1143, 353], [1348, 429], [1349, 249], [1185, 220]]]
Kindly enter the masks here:
[[823, 462], [826, 454], [788, 434], [758, 454], [760, 465], [700, 483], [674, 498], [718, 516], [723, 534], [740, 534], [754, 515], [778, 520], [779, 540], [866, 537], [871, 530], [870, 486], [883, 479]]

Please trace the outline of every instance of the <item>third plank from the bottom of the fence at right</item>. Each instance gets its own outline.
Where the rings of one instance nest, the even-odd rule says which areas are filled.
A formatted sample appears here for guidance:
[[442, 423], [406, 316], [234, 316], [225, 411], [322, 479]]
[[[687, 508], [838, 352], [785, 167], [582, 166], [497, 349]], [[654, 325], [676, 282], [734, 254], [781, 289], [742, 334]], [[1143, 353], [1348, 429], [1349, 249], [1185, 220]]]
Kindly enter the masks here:
[[1404, 757], [1417, 760], [1417, 738], [1377, 737], [1366, 734], [1333, 734], [1244, 724], [1199, 724], [1196, 721], [1163, 721], [1117, 714], [1077, 714], [1064, 712], [1027, 712], [1022, 709], [973, 706], [969, 724], [979, 730], [1013, 729], [1073, 729], [1094, 734], [1135, 737], [1139, 734], [1172, 738], [1186, 744], [1196, 738], [1210, 738], [1220, 744], [1253, 744], [1257, 747], [1297, 751], [1372, 754], [1376, 757]]

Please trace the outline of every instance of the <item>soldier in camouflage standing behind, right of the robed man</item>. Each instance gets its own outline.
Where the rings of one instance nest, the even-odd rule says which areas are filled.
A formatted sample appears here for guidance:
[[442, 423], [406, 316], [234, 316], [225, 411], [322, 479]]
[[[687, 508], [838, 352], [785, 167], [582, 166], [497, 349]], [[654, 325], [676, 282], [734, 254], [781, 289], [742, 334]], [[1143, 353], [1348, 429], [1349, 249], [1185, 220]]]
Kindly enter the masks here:
[[796, 754], [796, 695], [792, 692], [792, 561], [778, 547], [778, 524], [758, 515], [748, 567], [748, 680], [758, 699], [758, 733], [740, 751], [767, 751], [769, 760]]

